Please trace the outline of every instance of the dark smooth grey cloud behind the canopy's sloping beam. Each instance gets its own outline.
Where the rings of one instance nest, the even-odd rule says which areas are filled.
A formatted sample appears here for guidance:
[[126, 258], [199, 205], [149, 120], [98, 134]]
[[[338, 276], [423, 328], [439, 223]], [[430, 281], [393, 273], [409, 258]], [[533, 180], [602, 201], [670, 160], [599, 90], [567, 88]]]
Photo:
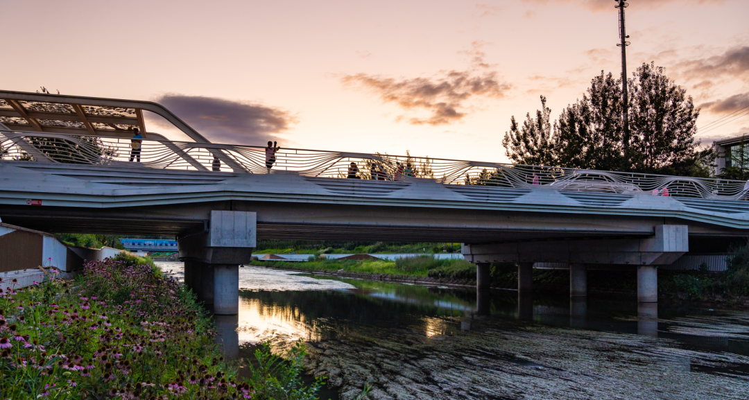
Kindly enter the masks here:
[[154, 101], [216, 142], [263, 144], [278, 140], [276, 134], [284, 133], [297, 122], [297, 118], [284, 109], [218, 97], [167, 93]]

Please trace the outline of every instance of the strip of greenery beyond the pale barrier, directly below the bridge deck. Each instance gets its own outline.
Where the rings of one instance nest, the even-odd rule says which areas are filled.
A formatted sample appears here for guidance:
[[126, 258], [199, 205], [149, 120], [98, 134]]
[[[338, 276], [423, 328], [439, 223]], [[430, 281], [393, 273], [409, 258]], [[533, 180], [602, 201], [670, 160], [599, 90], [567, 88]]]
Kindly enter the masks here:
[[255, 254], [392, 254], [460, 252], [460, 243], [328, 242], [305, 240], [258, 240]]

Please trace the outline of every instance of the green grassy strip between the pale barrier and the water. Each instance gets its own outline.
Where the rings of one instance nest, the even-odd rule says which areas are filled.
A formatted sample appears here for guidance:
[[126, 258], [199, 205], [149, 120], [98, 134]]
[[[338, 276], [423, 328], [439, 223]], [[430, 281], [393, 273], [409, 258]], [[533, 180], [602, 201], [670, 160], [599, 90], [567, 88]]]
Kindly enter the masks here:
[[390, 275], [430, 276], [449, 279], [476, 279], [476, 265], [463, 259], [441, 260], [433, 255], [398, 258], [387, 260], [328, 260], [316, 258], [315, 261], [253, 261], [252, 265], [261, 267], [286, 268], [306, 271], [337, 271], [363, 273], [386, 273]]

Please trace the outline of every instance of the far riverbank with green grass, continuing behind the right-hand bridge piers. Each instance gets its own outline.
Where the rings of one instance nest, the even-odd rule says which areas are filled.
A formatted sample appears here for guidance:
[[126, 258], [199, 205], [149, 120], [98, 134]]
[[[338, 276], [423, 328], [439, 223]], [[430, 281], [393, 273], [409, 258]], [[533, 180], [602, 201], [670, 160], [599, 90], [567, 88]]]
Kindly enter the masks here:
[[[723, 273], [707, 271], [660, 270], [659, 297], [676, 302], [699, 302], [718, 306], [749, 307], [749, 250], [735, 256], [730, 270]], [[739, 253], [737, 253], [739, 254]], [[742, 253], [743, 254], [743, 253]], [[386, 260], [326, 260], [305, 262], [252, 261], [256, 267], [324, 273], [336, 276], [380, 281], [424, 283], [431, 285], [476, 286], [476, 266], [464, 260], [437, 260], [431, 255]], [[493, 264], [491, 288], [518, 288], [515, 264]], [[569, 290], [568, 270], [533, 270], [534, 291], [565, 294]], [[594, 295], [637, 295], [637, 271], [590, 270], [588, 292]]]

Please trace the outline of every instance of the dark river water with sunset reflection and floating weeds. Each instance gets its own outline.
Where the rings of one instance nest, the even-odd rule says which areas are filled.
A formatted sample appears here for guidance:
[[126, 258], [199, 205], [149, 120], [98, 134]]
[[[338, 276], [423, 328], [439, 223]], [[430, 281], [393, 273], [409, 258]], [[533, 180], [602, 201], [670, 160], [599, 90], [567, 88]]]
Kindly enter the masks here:
[[[181, 263], [159, 263], [181, 274]], [[749, 312], [240, 268], [239, 342], [309, 343], [341, 399], [747, 399]], [[231, 326], [237, 326], [231, 325]], [[244, 345], [240, 357], [250, 357]]]

